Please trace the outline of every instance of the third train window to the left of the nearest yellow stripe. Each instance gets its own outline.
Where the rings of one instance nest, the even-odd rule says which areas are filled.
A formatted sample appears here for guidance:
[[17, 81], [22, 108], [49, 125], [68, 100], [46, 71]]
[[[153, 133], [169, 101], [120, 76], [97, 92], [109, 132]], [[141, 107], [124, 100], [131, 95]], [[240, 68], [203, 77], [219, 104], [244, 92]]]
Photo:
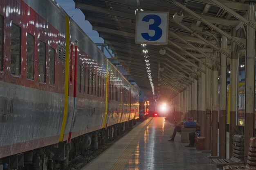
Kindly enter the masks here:
[[35, 38], [27, 33], [27, 79], [34, 80]]

